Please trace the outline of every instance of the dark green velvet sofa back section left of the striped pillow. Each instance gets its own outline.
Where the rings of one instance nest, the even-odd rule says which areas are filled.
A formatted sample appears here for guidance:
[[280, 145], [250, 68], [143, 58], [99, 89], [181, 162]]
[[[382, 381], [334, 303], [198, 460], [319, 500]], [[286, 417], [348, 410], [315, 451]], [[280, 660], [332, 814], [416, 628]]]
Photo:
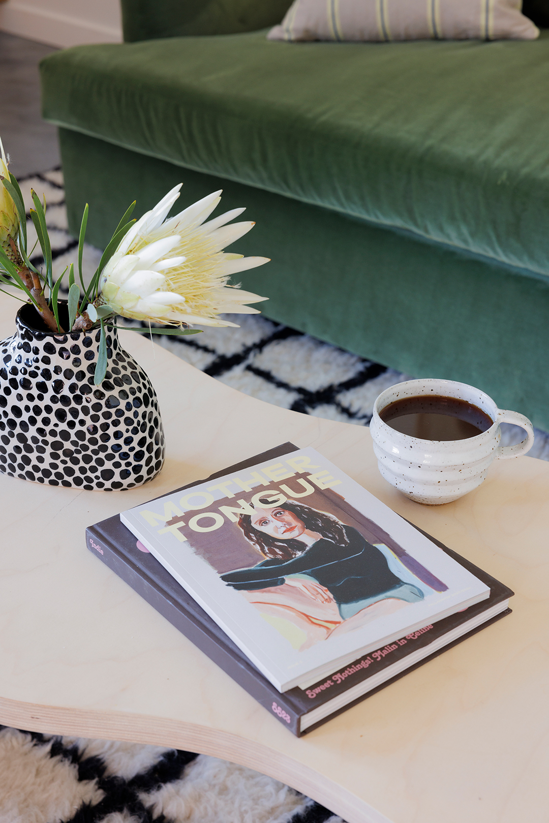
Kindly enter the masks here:
[[124, 40], [229, 35], [274, 26], [291, 0], [122, 0]]

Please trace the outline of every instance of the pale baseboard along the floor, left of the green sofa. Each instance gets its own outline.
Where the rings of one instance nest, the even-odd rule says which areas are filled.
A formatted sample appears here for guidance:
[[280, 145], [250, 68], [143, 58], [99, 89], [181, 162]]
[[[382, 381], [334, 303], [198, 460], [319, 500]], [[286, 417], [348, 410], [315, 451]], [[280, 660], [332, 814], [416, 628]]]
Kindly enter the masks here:
[[122, 42], [121, 25], [104, 26], [18, 0], [0, 3], [0, 31], [60, 48]]

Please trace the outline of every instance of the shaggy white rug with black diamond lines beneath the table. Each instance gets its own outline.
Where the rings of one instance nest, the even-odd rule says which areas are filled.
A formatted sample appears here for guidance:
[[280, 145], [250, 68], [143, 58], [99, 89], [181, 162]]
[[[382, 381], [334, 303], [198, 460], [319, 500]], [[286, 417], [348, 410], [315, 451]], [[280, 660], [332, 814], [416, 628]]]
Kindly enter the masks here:
[[[21, 180], [46, 195], [55, 276], [75, 260], [60, 170]], [[29, 223], [29, 236], [35, 238]], [[34, 239], [31, 240], [31, 246]], [[100, 260], [86, 247], [91, 276]], [[40, 258], [33, 258], [40, 263]], [[241, 392], [296, 412], [368, 425], [377, 395], [407, 375], [364, 360], [259, 315], [239, 329], [156, 344]], [[514, 438], [514, 427], [505, 442]], [[533, 453], [549, 459], [549, 436]], [[52, 730], [54, 731], [54, 730]], [[294, 789], [242, 766], [185, 751], [54, 737], [0, 727], [0, 823], [342, 823]]]

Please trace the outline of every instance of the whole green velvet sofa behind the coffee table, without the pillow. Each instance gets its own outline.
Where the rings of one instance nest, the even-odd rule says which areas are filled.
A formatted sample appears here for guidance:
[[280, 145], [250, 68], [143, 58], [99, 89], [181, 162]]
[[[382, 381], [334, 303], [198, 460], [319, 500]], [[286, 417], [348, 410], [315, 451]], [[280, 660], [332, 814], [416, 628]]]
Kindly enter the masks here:
[[289, 5], [123, 0], [125, 43], [44, 60], [72, 233], [86, 202], [104, 246], [134, 198], [222, 188], [268, 317], [549, 429], [549, 30], [267, 40]]

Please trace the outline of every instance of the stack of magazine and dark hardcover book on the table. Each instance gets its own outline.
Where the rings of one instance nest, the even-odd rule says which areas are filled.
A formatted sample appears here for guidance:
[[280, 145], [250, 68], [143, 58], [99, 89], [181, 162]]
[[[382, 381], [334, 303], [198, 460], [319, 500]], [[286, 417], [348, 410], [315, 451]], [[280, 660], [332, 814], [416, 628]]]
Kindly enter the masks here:
[[86, 546], [297, 736], [513, 594], [291, 443], [96, 523]]

